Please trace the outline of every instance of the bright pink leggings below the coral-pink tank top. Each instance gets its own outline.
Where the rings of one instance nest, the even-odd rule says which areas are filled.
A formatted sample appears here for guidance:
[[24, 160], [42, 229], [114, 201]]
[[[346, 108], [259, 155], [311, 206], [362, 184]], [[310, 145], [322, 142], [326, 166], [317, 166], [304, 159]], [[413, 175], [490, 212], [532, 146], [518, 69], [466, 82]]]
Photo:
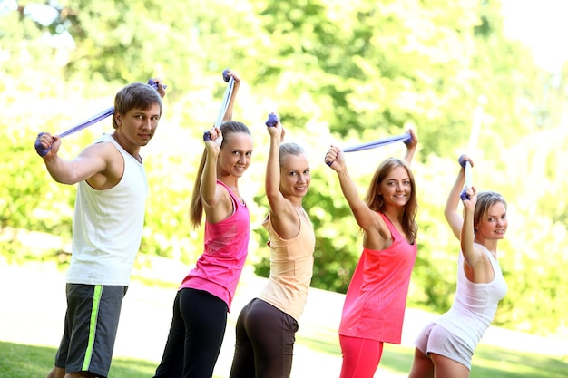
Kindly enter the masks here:
[[383, 354], [383, 342], [339, 335], [343, 354], [339, 378], [373, 378]]

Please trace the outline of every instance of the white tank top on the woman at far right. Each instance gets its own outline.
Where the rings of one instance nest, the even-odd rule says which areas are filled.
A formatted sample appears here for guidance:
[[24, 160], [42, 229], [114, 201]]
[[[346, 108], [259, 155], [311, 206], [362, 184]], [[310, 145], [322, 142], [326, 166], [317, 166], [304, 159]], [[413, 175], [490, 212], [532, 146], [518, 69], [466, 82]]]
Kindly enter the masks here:
[[501, 267], [493, 255], [482, 245], [494, 271], [493, 281], [486, 284], [475, 284], [465, 276], [464, 255], [460, 252], [457, 261], [457, 286], [452, 307], [441, 315], [436, 324], [443, 326], [465, 341], [472, 352], [479, 343], [485, 330], [491, 325], [497, 304], [507, 293], [507, 283], [504, 280]]

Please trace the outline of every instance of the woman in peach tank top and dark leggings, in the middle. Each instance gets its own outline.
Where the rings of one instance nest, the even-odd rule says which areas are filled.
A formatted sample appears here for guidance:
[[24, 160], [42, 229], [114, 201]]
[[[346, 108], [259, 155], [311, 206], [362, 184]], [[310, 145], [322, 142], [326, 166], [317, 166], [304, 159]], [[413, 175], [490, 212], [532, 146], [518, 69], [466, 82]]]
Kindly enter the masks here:
[[230, 378], [288, 378], [299, 316], [308, 299], [316, 237], [302, 199], [311, 174], [297, 143], [281, 143], [279, 121], [270, 126], [266, 195], [270, 276], [267, 286], [240, 311]]

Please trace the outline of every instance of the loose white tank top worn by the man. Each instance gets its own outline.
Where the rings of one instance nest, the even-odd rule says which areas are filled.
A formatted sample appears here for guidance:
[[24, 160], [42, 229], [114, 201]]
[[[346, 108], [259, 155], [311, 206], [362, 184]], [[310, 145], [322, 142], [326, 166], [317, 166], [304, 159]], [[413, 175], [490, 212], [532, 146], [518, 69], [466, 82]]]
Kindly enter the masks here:
[[128, 286], [142, 240], [148, 183], [143, 165], [103, 134], [122, 153], [124, 172], [115, 187], [78, 184], [73, 216], [73, 246], [67, 283]]

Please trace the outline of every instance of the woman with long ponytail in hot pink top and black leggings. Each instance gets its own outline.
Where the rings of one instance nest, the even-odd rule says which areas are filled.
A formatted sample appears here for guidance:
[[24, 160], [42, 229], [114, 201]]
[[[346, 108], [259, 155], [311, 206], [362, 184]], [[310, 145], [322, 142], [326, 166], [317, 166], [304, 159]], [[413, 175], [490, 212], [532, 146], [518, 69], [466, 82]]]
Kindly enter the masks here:
[[234, 78], [229, 107], [209, 130], [191, 197], [190, 218], [201, 226], [204, 250], [183, 279], [173, 303], [170, 333], [154, 377], [207, 378], [220, 353], [227, 313], [247, 257], [250, 214], [239, 180], [250, 165], [252, 137], [242, 122], [229, 121], [240, 78]]

